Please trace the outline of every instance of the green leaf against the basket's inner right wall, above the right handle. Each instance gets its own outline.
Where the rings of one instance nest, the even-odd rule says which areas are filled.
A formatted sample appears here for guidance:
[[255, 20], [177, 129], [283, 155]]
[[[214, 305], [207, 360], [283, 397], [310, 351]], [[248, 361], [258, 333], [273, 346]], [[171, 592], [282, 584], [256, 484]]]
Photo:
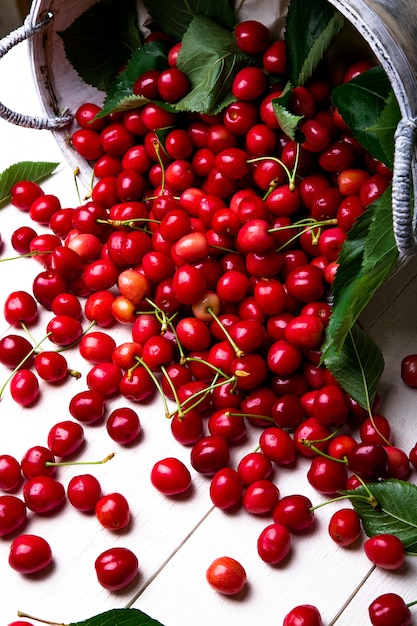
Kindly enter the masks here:
[[392, 168], [401, 113], [384, 69], [374, 67], [338, 85], [333, 103], [362, 146]]

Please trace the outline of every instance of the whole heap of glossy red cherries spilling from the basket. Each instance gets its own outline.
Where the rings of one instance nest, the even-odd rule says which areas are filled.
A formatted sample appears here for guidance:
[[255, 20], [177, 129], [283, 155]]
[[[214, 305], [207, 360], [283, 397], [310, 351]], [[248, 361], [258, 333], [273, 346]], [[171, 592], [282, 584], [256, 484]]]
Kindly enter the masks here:
[[[292, 533], [315, 519], [306, 496], [280, 497], [274, 465], [309, 459], [308, 481], [326, 497], [364, 482], [406, 480], [417, 467], [416, 450], [407, 454], [391, 443], [378, 406], [371, 412], [358, 406], [320, 358], [339, 252], [391, 180], [331, 102], [335, 85], [371, 64], [332, 59], [293, 90], [289, 109], [303, 116], [305, 138], [297, 143], [280, 129], [272, 104], [286, 83], [284, 42], [253, 20], [239, 24], [236, 41], [258, 62], [236, 72], [234, 101], [221, 114], [173, 113], [155, 103], [175, 103], [190, 89], [175, 44], [165, 70], [138, 76], [133, 93], [148, 99], [144, 106], [106, 117], [97, 117], [101, 108], [91, 102], [77, 110], [71, 144], [94, 172], [80, 206], [63, 208], [27, 180], [11, 189], [12, 204], [33, 221], [13, 233], [12, 246], [41, 269], [33, 293], [15, 291], [5, 302], [14, 331], [0, 340], [0, 362], [11, 370], [10, 393], [30, 407], [39, 379], [80, 376], [68, 367], [69, 349], [91, 368], [47, 446], [34, 446], [21, 462], [0, 458], [3, 491], [24, 477], [22, 499], [0, 496], [2, 535], [21, 527], [27, 508], [45, 514], [65, 498], [95, 510], [105, 528], [124, 528], [130, 512], [121, 494], [103, 495], [90, 474], [64, 489], [54, 463], [76, 454], [84, 428], [104, 418], [115, 441], [136, 441], [141, 425], [132, 406], [157, 394], [173, 437], [190, 449], [191, 468], [209, 478], [213, 505], [270, 515], [258, 539], [266, 563], [284, 561]], [[20, 332], [37, 321], [40, 307], [52, 314], [45, 337], [56, 349]], [[115, 327], [124, 329], [120, 343]], [[110, 398], [122, 406], [107, 415]], [[258, 433], [258, 447], [232, 467], [231, 449], [248, 429]], [[169, 457], [155, 464], [150, 480], [169, 496], [187, 491], [192, 475]], [[342, 546], [357, 541], [358, 514], [337, 511], [329, 534]], [[110, 590], [137, 573], [136, 556], [120, 550], [96, 562]], [[364, 550], [386, 569], [405, 558], [393, 535], [368, 539]], [[19, 535], [12, 543], [10, 565], [22, 573], [43, 569], [51, 558], [40, 537]], [[213, 562], [207, 579], [222, 593], [237, 593], [246, 572], [227, 557]], [[375, 607], [371, 621], [388, 623]], [[315, 607], [302, 606], [284, 624], [317, 626], [321, 618]]]

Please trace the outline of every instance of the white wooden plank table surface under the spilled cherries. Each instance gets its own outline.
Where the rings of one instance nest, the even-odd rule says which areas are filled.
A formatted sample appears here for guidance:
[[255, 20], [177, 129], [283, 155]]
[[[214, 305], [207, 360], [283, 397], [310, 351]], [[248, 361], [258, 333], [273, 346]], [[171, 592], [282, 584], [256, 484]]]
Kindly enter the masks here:
[[[41, 113], [26, 44], [20, 44], [0, 63], [0, 101], [22, 113]], [[23, 160], [59, 161], [57, 172], [43, 188], [58, 195], [62, 206], [78, 204], [72, 172], [48, 131], [22, 129], [0, 121], [0, 171]], [[10, 236], [23, 223], [29, 224], [28, 217], [14, 207], [1, 210], [3, 257], [13, 254]], [[0, 263], [0, 307], [10, 291], [30, 290], [39, 271], [39, 265], [30, 259]], [[386, 359], [381, 412], [392, 421], [395, 443], [406, 451], [417, 440], [417, 391], [402, 383], [400, 360], [405, 354], [417, 352], [416, 274], [417, 263], [412, 260], [381, 290], [363, 316], [365, 327]], [[36, 337], [42, 336], [49, 317], [42, 315], [32, 329]], [[1, 335], [9, 330], [3, 321]], [[122, 331], [117, 332], [121, 338]], [[83, 374], [88, 371], [76, 351], [68, 358], [71, 367]], [[6, 370], [0, 368], [0, 381], [6, 375]], [[72, 395], [86, 388], [83, 380], [70, 380], [57, 388], [43, 384], [42, 399], [34, 409], [19, 408], [6, 390], [0, 401], [0, 453], [20, 459], [30, 446], [46, 445], [50, 427], [68, 419]], [[111, 400], [109, 407], [120, 406], [121, 402]], [[294, 537], [290, 557], [272, 567], [263, 563], [256, 551], [258, 534], [269, 519], [244, 511], [231, 514], [213, 509], [209, 479], [192, 472], [191, 496], [164, 498], [150, 484], [153, 463], [173, 455], [190, 466], [189, 449], [174, 441], [157, 401], [135, 408], [142, 424], [137, 444], [123, 448], [111, 441], [103, 425], [86, 426], [87, 445], [78, 460], [100, 459], [113, 451], [115, 457], [105, 465], [65, 467], [58, 472], [64, 485], [73, 475], [88, 471], [97, 476], [103, 492], [123, 493], [131, 506], [132, 524], [121, 533], [111, 533], [99, 526], [94, 515], [81, 514], [69, 503], [55, 515], [29, 515], [25, 530], [48, 539], [54, 554], [53, 567], [45, 574], [21, 576], [7, 564], [10, 538], [0, 540], [1, 624], [16, 620], [18, 610], [70, 623], [111, 608], [134, 606], [165, 626], [277, 626], [293, 606], [310, 603], [319, 608], [326, 626], [350, 626], [369, 623], [367, 607], [380, 593], [395, 591], [406, 601], [417, 599], [415, 559], [408, 559], [400, 571], [384, 573], [370, 565], [360, 544], [343, 549], [331, 541], [327, 523], [336, 505], [317, 511], [314, 532]], [[258, 436], [259, 431], [254, 431], [237, 446], [234, 458], [254, 450]], [[304, 493], [314, 504], [322, 501], [307, 482], [307, 466], [308, 462], [300, 460], [295, 469], [277, 469], [275, 481], [281, 496]], [[415, 474], [411, 480], [415, 480]], [[140, 577], [133, 588], [111, 594], [98, 584], [94, 560], [114, 545], [129, 547], [137, 554]], [[241, 597], [216, 594], [205, 581], [207, 566], [221, 555], [237, 558], [247, 571], [248, 586]]]

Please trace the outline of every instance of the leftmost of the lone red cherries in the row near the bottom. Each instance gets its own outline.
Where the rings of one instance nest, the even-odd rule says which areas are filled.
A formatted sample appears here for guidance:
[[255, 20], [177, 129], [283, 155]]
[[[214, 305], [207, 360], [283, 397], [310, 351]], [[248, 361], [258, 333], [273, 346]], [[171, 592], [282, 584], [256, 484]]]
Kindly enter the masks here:
[[9, 565], [20, 574], [39, 572], [48, 567], [51, 561], [51, 547], [38, 535], [19, 535], [10, 545]]

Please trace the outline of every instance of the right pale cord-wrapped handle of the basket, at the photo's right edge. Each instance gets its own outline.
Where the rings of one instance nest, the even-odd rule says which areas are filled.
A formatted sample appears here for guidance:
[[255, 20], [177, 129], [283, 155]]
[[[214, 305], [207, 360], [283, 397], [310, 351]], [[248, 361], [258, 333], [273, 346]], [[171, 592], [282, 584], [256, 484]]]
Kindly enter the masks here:
[[400, 255], [407, 257], [417, 252], [417, 216], [413, 215], [412, 178], [417, 189], [416, 167], [413, 165], [417, 119], [403, 118], [395, 133], [394, 173], [392, 180], [392, 213], [394, 237]]

